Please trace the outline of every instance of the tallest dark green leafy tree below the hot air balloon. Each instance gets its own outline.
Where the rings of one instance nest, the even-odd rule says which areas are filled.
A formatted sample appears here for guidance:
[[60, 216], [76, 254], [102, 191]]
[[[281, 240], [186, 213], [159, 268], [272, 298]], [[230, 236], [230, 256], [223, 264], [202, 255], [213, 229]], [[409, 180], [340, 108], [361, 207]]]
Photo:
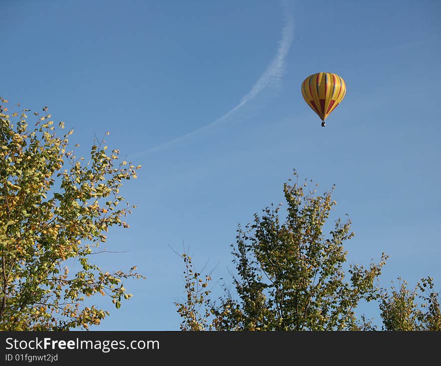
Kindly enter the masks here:
[[[324, 235], [326, 220], [336, 204], [331, 198], [334, 188], [318, 195], [307, 181], [299, 184], [297, 180], [292, 185], [290, 181], [284, 185], [288, 204], [285, 222], [282, 223], [279, 205], [263, 210], [262, 217], [256, 214], [254, 223], [245, 230], [239, 227], [237, 243], [232, 245], [236, 294], [225, 287], [226, 295], [218, 300], [218, 305], [205, 302], [212, 327], [369, 329], [371, 324], [364, 318], [358, 320], [354, 309], [360, 301], [379, 298], [376, 280], [386, 256], [383, 253], [380, 262], [371, 263], [369, 268], [351, 265], [345, 271], [347, 252], [343, 243], [354, 235], [350, 220], [337, 220], [329, 236]], [[195, 282], [198, 280], [194, 278]], [[189, 295], [191, 288], [186, 290]], [[204, 303], [204, 299], [198, 301]], [[189, 319], [189, 312], [182, 311], [182, 307], [178, 307], [178, 312]], [[200, 327], [206, 328], [204, 324]]]

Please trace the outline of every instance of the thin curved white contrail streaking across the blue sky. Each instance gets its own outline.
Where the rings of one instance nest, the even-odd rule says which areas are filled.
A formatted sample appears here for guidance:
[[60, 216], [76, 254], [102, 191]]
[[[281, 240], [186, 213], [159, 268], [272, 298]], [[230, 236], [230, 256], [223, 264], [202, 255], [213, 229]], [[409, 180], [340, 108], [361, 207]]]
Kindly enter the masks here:
[[270, 65], [266, 68], [265, 72], [262, 74], [262, 76], [259, 78], [259, 80], [253, 85], [250, 92], [245, 95], [239, 104], [225, 113], [222, 117], [217, 118], [215, 121], [208, 123], [202, 127], [199, 127], [191, 132], [188, 132], [184, 135], [181, 135], [179, 137], [176, 137], [170, 141], [161, 143], [157, 146], [151, 147], [147, 150], [140, 151], [136, 153], [136, 156], [139, 155], [147, 155], [153, 151], [162, 149], [164, 147], [170, 146], [175, 142], [181, 141], [185, 138], [188, 138], [190, 136], [195, 135], [196, 133], [206, 130], [208, 128], [213, 127], [214, 125], [219, 124], [220, 122], [226, 120], [229, 118], [232, 114], [234, 114], [238, 109], [242, 108], [245, 104], [247, 104], [250, 100], [254, 99], [262, 90], [264, 90], [267, 86], [272, 85], [274, 83], [277, 83], [280, 81], [284, 69], [285, 69], [285, 59], [288, 55], [289, 49], [291, 47], [291, 44], [293, 42], [293, 35], [294, 35], [294, 19], [292, 14], [289, 12], [288, 6], [283, 3], [283, 7], [285, 9], [285, 25], [282, 29], [282, 38], [279, 41], [279, 48], [277, 50], [276, 55], [274, 56], [273, 60], [271, 61]]

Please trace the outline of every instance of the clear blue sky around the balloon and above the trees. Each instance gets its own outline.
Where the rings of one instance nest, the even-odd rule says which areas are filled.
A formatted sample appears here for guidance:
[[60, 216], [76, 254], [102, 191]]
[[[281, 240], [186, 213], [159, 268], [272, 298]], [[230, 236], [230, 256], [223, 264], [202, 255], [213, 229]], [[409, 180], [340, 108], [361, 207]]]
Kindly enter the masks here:
[[[98, 261], [138, 266], [134, 296], [96, 329], [173, 330], [183, 295], [172, 249], [228, 278], [237, 224], [272, 202], [295, 168], [335, 218], [348, 262], [390, 258], [381, 283], [430, 275], [441, 288], [437, 1], [2, 2], [2, 83], [11, 104], [49, 106], [80, 152], [106, 143], [135, 165], [130, 229]], [[310, 74], [347, 84], [327, 127], [304, 102]], [[208, 126], [208, 127], [206, 127]], [[193, 131], [196, 131], [192, 133]], [[219, 290], [219, 286], [213, 289]], [[371, 306], [362, 307], [377, 316]]]

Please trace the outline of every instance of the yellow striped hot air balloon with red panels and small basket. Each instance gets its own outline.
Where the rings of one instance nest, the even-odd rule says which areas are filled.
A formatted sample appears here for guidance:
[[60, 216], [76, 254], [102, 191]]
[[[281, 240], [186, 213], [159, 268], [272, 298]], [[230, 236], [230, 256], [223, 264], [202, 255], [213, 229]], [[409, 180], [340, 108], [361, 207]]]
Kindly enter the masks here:
[[325, 119], [339, 105], [346, 94], [346, 83], [336, 75], [319, 72], [308, 76], [302, 83], [302, 95], [316, 112], [325, 127]]

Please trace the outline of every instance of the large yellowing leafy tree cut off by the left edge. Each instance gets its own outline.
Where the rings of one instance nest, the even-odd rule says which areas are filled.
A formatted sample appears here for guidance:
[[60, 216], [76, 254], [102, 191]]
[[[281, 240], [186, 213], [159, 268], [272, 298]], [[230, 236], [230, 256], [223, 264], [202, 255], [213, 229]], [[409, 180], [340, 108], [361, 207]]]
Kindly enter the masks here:
[[[58, 136], [64, 122], [56, 130], [47, 107], [43, 116], [34, 112], [36, 127], [28, 129], [30, 110], [12, 113], [14, 125], [2, 102], [0, 328], [87, 329], [109, 312], [86, 306], [85, 297], [109, 296], [119, 308], [132, 296], [122, 280], [142, 277], [136, 267], [109, 273], [91, 262], [109, 227], [129, 227], [123, 219], [132, 207], [120, 208], [119, 189], [140, 165], [121, 162], [119, 150], [107, 153], [104, 140], [92, 146], [89, 160], [77, 158], [68, 151], [73, 130]], [[81, 263], [77, 273], [65, 266], [72, 258]]]

